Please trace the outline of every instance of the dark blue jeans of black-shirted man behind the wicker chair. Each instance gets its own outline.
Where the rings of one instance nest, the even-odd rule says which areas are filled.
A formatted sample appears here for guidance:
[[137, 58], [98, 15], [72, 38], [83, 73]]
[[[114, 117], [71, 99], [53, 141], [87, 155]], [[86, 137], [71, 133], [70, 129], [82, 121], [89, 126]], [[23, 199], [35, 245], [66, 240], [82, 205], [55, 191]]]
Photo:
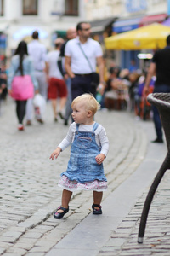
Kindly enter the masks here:
[[[155, 92], [168, 93], [168, 92], [170, 92], [170, 86], [167, 84], [157, 85], [154, 88], [154, 93]], [[162, 139], [162, 125], [161, 125], [160, 115], [159, 115], [159, 112], [158, 112], [156, 106], [153, 106], [152, 109], [153, 109], [153, 120], [154, 120], [155, 129], [156, 129], [156, 136], [158, 139], [161, 140]]]

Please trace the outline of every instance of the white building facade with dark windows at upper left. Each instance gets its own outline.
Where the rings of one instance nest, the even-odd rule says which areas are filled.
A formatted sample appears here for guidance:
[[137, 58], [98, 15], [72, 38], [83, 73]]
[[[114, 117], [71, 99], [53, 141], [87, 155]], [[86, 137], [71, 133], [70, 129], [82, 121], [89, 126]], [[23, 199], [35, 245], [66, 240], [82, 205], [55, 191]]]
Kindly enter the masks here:
[[11, 55], [20, 40], [37, 30], [50, 49], [56, 37], [84, 19], [83, 0], [0, 0], [0, 55]]

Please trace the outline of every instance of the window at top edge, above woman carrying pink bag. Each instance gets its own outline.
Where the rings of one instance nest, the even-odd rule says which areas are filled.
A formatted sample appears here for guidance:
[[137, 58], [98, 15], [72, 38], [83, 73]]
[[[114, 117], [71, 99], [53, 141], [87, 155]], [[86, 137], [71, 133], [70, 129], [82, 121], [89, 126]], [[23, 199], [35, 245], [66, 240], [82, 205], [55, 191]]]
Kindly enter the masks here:
[[23, 15], [37, 15], [37, 0], [23, 0]]

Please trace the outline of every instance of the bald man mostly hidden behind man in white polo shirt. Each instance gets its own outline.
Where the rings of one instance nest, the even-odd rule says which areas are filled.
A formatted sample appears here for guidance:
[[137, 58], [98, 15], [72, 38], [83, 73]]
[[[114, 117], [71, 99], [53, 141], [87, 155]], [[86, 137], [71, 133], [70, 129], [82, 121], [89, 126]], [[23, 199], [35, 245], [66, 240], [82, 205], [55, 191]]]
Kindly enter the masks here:
[[68, 76], [68, 74], [65, 71], [65, 45], [67, 42], [73, 38], [77, 37], [77, 30], [75, 27], [70, 27], [66, 32], [66, 41], [64, 44], [62, 44], [60, 49], [60, 55], [59, 55], [59, 70], [63, 74], [65, 78], [65, 83], [67, 86], [67, 102], [66, 102], [66, 108], [65, 108], [65, 125], [68, 125], [68, 120], [71, 117], [72, 109], [71, 109], [71, 78]]

